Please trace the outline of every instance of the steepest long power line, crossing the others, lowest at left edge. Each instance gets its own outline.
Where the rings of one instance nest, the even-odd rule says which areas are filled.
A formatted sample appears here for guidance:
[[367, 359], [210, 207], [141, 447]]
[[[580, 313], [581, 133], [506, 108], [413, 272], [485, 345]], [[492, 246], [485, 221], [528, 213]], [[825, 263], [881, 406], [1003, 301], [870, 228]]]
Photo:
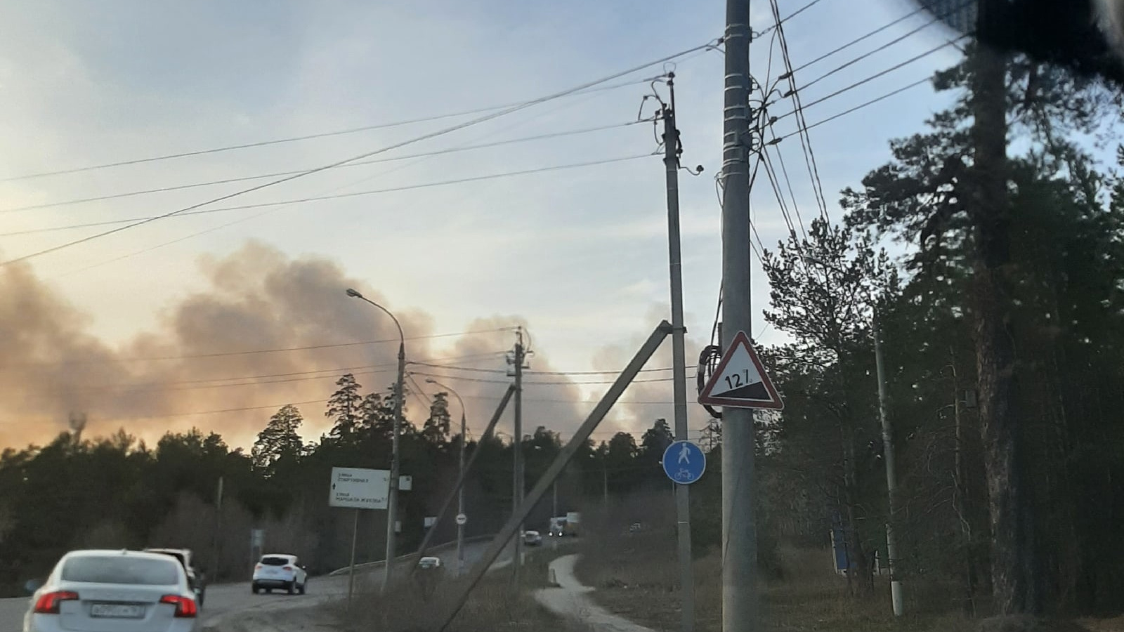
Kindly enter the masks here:
[[88, 235], [85, 237], [82, 237], [82, 238], [79, 238], [79, 240], [73, 240], [73, 241], [70, 241], [70, 242], [66, 242], [66, 243], [63, 243], [63, 244], [58, 244], [56, 246], [51, 246], [51, 247], [47, 247], [47, 249], [43, 249], [40, 251], [36, 251], [36, 252], [33, 252], [30, 254], [25, 254], [22, 256], [17, 256], [15, 259], [9, 259], [7, 261], [0, 262], [0, 267], [9, 265], [9, 264], [12, 264], [12, 263], [18, 263], [18, 262], [21, 262], [21, 261], [27, 261], [27, 260], [30, 260], [30, 259], [34, 259], [34, 258], [37, 258], [37, 256], [40, 256], [40, 255], [44, 255], [44, 254], [57, 252], [57, 251], [61, 251], [63, 249], [67, 249], [67, 247], [75, 246], [75, 245], [79, 245], [79, 244], [82, 244], [82, 243], [85, 243], [85, 242], [90, 242], [90, 241], [93, 241], [93, 240], [97, 240], [97, 238], [100, 238], [100, 237], [105, 237], [105, 236], [108, 236], [108, 235], [120, 233], [123, 231], [127, 231], [127, 229], [134, 228], [136, 226], [142, 226], [142, 225], [148, 224], [151, 222], [156, 222], [158, 219], [164, 219], [164, 218], [167, 218], [167, 217], [180, 215], [182, 213], [194, 210], [194, 209], [203, 207], [203, 206], [208, 206], [208, 205], [211, 205], [211, 204], [215, 204], [215, 202], [227, 200], [227, 199], [230, 199], [230, 198], [234, 198], [234, 197], [237, 197], [237, 196], [243, 196], [245, 193], [250, 193], [250, 192], [253, 192], [253, 191], [260, 191], [260, 190], [265, 189], [268, 187], [273, 187], [273, 186], [277, 186], [277, 184], [281, 184], [283, 182], [289, 182], [289, 181], [292, 181], [292, 180], [297, 180], [298, 178], [305, 178], [307, 175], [311, 175], [314, 173], [319, 173], [320, 171], [326, 171], [328, 169], [334, 169], [336, 166], [341, 166], [341, 165], [347, 164], [350, 162], [355, 162], [355, 161], [359, 161], [359, 160], [371, 157], [371, 156], [377, 155], [377, 154], [389, 152], [391, 150], [397, 150], [399, 147], [405, 147], [407, 145], [411, 145], [414, 143], [419, 143], [422, 141], [426, 141], [426, 139], [429, 139], [429, 138], [436, 138], [438, 136], [444, 136], [446, 134], [450, 134], [450, 133], [453, 133], [453, 132], [457, 132], [460, 129], [464, 129], [464, 128], [471, 127], [473, 125], [479, 125], [481, 123], [486, 123], [486, 121], [489, 121], [489, 120], [492, 120], [492, 119], [496, 119], [496, 118], [499, 118], [499, 117], [502, 117], [502, 116], [507, 116], [509, 114], [513, 114], [513, 112], [516, 112], [516, 111], [529, 108], [529, 107], [538, 105], [538, 103], [543, 103], [543, 102], [546, 102], [546, 101], [551, 101], [553, 99], [558, 99], [558, 98], [561, 98], [561, 97], [573, 94], [574, 92], [578, 92], [580, 90], [586, 90], [588, 88], [592, 88], [592, 87], [598, 85], [600, 83], [605, 83], [607, 81], [613, 81], [614, 79], [619, 79], [619, 78], [622, 78], [624, 75], [632, 74], [632, 73], [637, 72], [640, 70], [646, 69], [646, 67], [649, 67], [651, 65], [655, 65], [655, 64], [659, 64], [659, 63], [664, 63], [664, 62], [671, 61], [671, 60], [673, 60], [676, 57], [680, 57], [682, 55], [686, 55], [686, 54], [689, 54], [689, 53], [694, 53], [695, 51], [698, 51], [698, 49], [701, 49], [701, 48], [706, 48], [707, 46], [709, 46], [709, 43], [704, 44], [703, 46], [695, 46], [692, 48], [688, 48], [687, 51], [677, 53], [674, 55], [669, 55], [669, 56], [662, 57], [660, 60], [655, 60], [653, 62], [649, 62], [649, 63], [642, 64], [640, 66], [634, 66], [634, 67], [628, 69], [626, 71], [618, 72], [618, 73], [615, 73], [615, 74], [611, 74], [611, 75], [608, 75], [608, 76], [605, 76], [605, 78], [601, 78], [601, 79], [598, 79], [598, 80], [595, 80], [595, 81], [591, 81], [591, 82], [587, 82], [587, 83], [583, 83], [583, 84], [574, 87], [574, 88], [569, 88], [569, 89], [563, 90], [561, 92], [554, 92], [553, 94], [547, 94], [545, 97], [541, 97], [541, 98], [535, 99], [533, 101], [526, 101], [526, 102], [517, 105], [517, 106], [513, 106], [513, 107], [505, 108], [502, 110], [499, 110], [499, 111], [496, 111], [496, 112], [492, 112], [492, 114], [488, 114], [488, 115], [484, 115], [484, 116], [481, 116], [481, 117], [473, 118], [473, 119], [468, 120], [465, 123], [461, 123], [461, 124], [457, 124], [457, 125], [445, 127], [445, 128], [438, 129], [436, 132], [430, 132], [428, 134], [423, 134], [422, 136], [416, 136], [416, 137], [409, 138], [407, 141], [402, 141], [402, 142], [399, 142], [399, 143], [387, 145], [387, 146], [380, 147], [380, 148], [371, 151], [371, 152], [365, 152], [365, 153], [362, 153], [362, 154], [359, 154], [359, 155], [355, 155], [355, 156], [352, 156], [352, 157], [348, 157], [348, 159], [344, 159], [344, 160], [341, 160], [341, 161], [336, 161], [336, 162], [326, 164], [324, 166], [319, 166], [319, 168], [311, 169], [311, 170], [308, 170], [308, 171], [302, 171], [302, 172], [300, 172], [298, 174], [288, 175], [285, 178], [279, 178], [277, 180], [271, 180], [271, 181], [265, 182], [263, 184], [257, 184], [255, 187], [251, 187], [248, 189], [243, 189], [241, 191], [235, 191], [233, 193], [227, 193], [225, 196], [219, 196], [217, 198], [211, 198], [211, 199], [209, 199], [207, 201], [194, 204], [194, 205], [191, 205], [191, 206], [178, 209], [178, 210], [172, 210], [172, 211], [165, 213], [163, 215], [158, 215], [158, 216], [153, 217], [153, 218], [144, 219], [144, 220], [136, 222], [136, 223], [133, 223], [133, 224], [127, 224], [125, 226], [119, 226], [117, 228], [110, 228], [109, 231], [103, 231], [103, 232], [97, 233], [94, 235]]

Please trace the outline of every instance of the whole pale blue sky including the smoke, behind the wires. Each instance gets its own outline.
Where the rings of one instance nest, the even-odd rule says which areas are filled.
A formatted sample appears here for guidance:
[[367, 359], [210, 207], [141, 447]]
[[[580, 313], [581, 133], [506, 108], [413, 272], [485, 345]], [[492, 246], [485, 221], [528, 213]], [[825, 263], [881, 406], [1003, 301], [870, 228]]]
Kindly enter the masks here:
[[[779, 0], [779, 11], [805, 4]], [[836, 220], [839, 191], [858, 186], [889, 157], [890, 138], [921, 130], [948, 98], [921, 85], [816, 124], [923, 80], [958, 52], [948, 31], [914, 15], [801, 66], [913, 9], [904, 0], [858, 10], [819, 0], [783, 24]], [[535, 352], [527, 379], [540, 382], [527, 387], [526, 424], [572, 431], [614, 374], [550, 373], [617, 370], [668, 317], [664, 171], [652, 155], [652, 123], [637, 123], [653, 111], [651, 100], [642, 109], [649, 80], [668, 71], [683, 163], [704, 166], [697, 177], [680, 172], [690, 361], [709, 342], [720, 272], [714, 175], [724, 62], [697, 48], [722, 35], [724, 15], [720, 1], [663, 0], [577, 0], [565, 10], [510, 0], [0, 4], [2, 261], [277, 178], [185, 184], [366, 154], [359, 162], [378, 161], [0, 267], [0, 443], [42, 442], [79, 412], [98, 432], [124, 426], [151, 440], [197, 426], [246, 444], [289, 401], [309, 403], [307, 434], [316, 436], [326, 427], [319, 401], [342, 369], [362, 367], [369, 388], [392, 380], [395, 341], [356, 343], [396, 338], [396, 329], [348, 299], [350, 286], [399, 316], [411, 361], [459, 367], [411, 365], [413, 390], [432, 395], [439, 389], [424, 379], [436, 377], [468, 395], [477, 432], [506, 388], [511, 327], [524, 326]], [[773, 24], [767, 2], [753, 2], [752, 15], [756, 30]], [[783, 72], [770, 35], [751, 52], [762, 81]], [[502, 111], [484, 108], [607, 76], [615, 79], [597, 90], [473, 123]], [[667, 97], [665, 85], [655, 89]], [[796, 130], [796, 117], [782, 116], [791, 109], [791, 99], [771, 106], [782, 117], [779, 136]], [[389, 125], [460, 112], [474, 114]], [[354, 128], [368, 129], [206, 152]], [[554, 136], [502, 143], [542, 135]], [[473, 148], [481, 144], [493, 146]], [[797, 137], [778, 148], [795, 207], [810, 222], [818, 210]], [[206, 153], [143, 160], [196, 152]], [[57, 171], [66, 173], [28, 178]], [[511, 174], [525, 171], [534, 173]], [[162, 188], [173, 190], [139, 193]], [[759, 182], [752, 202], [762, 241], [776, 244], [788, 228], [771, 189]], [[243, 206], [253, 208], [229, 209]], [[89, 224], [101, 225], [75, 227]], [[783, 340], [761, 317], [768, 287], [759, 268], [752, 291], [751, 334], [761, 344]], [[461, 332], [471, 333], [445, 335]], [[670, 365], [665, 344], [647, 367]], [[595, 436], [671, 417], [670, 372], [642, 376], [663, 381], [632, 387], [633, 403]], [[416, 413], [425, 401], [416, 395], [408, 406]], [[696, 433], [705, 422], [692, 404]]]

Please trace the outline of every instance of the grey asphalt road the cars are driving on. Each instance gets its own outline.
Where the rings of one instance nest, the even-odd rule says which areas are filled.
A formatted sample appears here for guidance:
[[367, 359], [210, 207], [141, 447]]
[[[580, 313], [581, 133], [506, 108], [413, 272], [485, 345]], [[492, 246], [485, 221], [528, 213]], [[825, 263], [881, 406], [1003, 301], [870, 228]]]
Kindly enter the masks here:
[[[471, 542], [464, 545], [464, 560], [466, 565], [474, 565], [488, 548], [488, 542]], [[453, 561], [452, 551], [436, 553], [447, 562]], [[405, 571], [405, 566], [398, 572]], [[356, 576], [356, 592], [364, 588], [377, 587], [382, 580], [382, 570], [372, 569]], [[290, 608], [307, 606], [309, 603], [323, 603], [332, 598], [347, 595], [347, 576], [314, 577], [308, 580], [307, 595], [285, 595], [274, 593], [272, 595], [254, 595], [250, 592], [250, 583], [241, 584], [216, 584], [207, 588], [207, 601], [200, 613], [200, 630], [208, 625], [214, 625], [220, 617], [234, 615], [241, 612], [256, 608]], [[24, 629], [24, 613], [27, 612], [27, 597], [12, 597], [0, 599], [0, 632], [21, 632]]]

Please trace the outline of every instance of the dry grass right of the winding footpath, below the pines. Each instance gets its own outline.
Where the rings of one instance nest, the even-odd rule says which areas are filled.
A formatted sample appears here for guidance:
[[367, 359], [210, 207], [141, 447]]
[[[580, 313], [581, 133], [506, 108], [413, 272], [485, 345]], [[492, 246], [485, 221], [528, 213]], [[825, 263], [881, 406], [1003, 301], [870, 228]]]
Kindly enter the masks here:
[[[680, 630], [679, 565], [671, 532], [589, 538], [575, 572], [597, 590], [606, 610], [656, 632]], [[831, 570], [826, 550], [782, 548], [783, 579], [762, 580], [761, 619], [781, 632], [1124, 632], [1124, 620], [1078, 623], [971, 619], [952, 581], [914, 580], [907, 585], [906, 615], [889, 607], [889, 583], [876, 581], [869, 596], [854, 597], [846, 580]], [[696, 630], [722, 630], [722, 560], [709, 554], [694, 563]], [[987, 604], [980, 604], [986, 608]], [[980, 613], [986, 616], [985, 612]]]

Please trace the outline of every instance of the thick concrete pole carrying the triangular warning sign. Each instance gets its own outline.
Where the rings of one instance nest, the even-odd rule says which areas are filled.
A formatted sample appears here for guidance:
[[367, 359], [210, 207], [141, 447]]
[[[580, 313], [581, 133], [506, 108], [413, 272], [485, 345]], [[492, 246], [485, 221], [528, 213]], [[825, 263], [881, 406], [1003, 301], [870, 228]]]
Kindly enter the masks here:
[[[722, 137], [722, 346], [750, 332], [750, 0], [726, 0]], [[725, 407], [722, 428], [722, 629], [758, 630], [753, 410]]]

